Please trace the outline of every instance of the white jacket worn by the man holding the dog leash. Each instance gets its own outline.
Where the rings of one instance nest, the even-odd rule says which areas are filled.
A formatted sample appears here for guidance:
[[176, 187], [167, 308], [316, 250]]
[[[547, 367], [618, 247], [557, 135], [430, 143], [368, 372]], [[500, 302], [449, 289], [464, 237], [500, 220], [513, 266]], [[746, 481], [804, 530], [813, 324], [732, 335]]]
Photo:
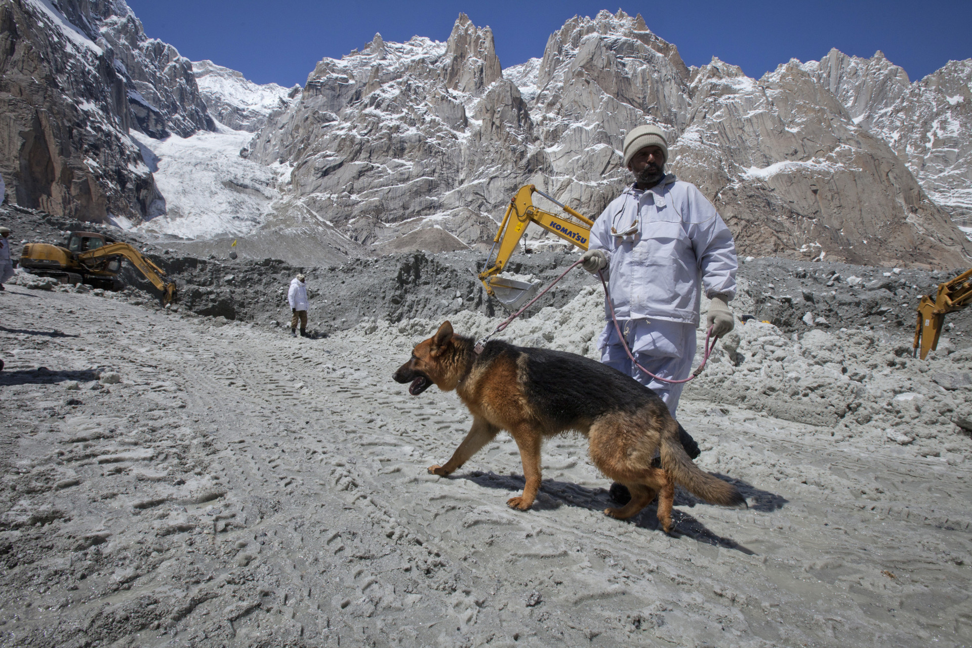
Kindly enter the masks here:
[[619, 320], [697, 325], [700, 284], [707, 296], [736, 294], [732, 233], [695, 185], [672, 174], [612, 200], [591, 228], [590, 249], [608, 253], [608, 289]]

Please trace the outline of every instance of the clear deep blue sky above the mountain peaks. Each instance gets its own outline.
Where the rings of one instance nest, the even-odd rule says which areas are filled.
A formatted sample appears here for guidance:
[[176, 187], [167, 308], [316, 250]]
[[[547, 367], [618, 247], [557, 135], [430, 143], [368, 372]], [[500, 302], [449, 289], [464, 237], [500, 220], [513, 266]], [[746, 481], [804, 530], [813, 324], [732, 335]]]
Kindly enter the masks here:
[[[192, 60], [209, 58], [265, 84], [303, 84], [315, 63], [414, 35], [444, 41], [460, 12], [493, 28], [503, 67], [542, 56], [547, 37], [574, 15], [618, 5], [562, 2], [313, 2], [311, 0], [127, 0], [150, 37]], [[616, 2], [617, 0], [615, 0]], [[912, 81], [949, 59], [972, 57], [972, 1], [819, 0], [621, 2], [674, 43], [688, 65], [712, 56], [760, 77], [790, 58], [819, 59], [830, 48], [857, 56], [885, 52]]]

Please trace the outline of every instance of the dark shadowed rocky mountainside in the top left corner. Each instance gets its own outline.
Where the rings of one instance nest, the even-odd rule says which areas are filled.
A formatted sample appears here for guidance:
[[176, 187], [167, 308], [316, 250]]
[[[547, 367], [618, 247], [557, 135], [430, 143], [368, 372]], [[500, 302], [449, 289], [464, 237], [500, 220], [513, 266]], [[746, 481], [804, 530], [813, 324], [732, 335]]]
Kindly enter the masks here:
[[191, 63], [121, 0], [0, 2], [0, 174], [19, 205], [87, 221], [165, 211], [131, 130], [214, 127]]

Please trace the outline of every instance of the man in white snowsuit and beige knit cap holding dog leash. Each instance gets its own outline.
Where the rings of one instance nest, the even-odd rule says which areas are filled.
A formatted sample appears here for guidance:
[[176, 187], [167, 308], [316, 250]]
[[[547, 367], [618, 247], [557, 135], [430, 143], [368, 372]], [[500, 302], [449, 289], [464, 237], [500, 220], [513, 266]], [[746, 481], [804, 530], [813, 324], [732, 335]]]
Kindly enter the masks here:
[[[664, 131], [652, 125], [633, 128], [623, 153], [635, 183], [594, 223], [583, 266], [593, 273], [604, 269], [618, 324], [638, 362], [657, 376], [681, 380], [688, 378], [695, 357], [701, 287], [712, 300], [707, 318], [712, 335], [733, 328], [728, 302], [736, 294], [736, 246], [702, 192], [665, 173]], [[607, 302], [605, 317], [598, 339], [601, 361], [657, 392], [674, 417], [683, 384], [654, 380], [634, 366]], [[698, 446], [679, 431], [694, 459]]]

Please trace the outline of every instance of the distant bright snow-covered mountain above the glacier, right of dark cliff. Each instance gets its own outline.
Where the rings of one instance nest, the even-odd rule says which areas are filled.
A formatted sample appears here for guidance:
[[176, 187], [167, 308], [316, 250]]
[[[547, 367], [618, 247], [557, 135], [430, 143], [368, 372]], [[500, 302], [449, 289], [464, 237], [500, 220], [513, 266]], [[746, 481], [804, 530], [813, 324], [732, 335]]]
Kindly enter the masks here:
[[259, 85], [213, 61], [193, 61], [192, 73], [209, 114], [233, 130], [256, 132], [271, 113], [287, 110], [300, 86]]

